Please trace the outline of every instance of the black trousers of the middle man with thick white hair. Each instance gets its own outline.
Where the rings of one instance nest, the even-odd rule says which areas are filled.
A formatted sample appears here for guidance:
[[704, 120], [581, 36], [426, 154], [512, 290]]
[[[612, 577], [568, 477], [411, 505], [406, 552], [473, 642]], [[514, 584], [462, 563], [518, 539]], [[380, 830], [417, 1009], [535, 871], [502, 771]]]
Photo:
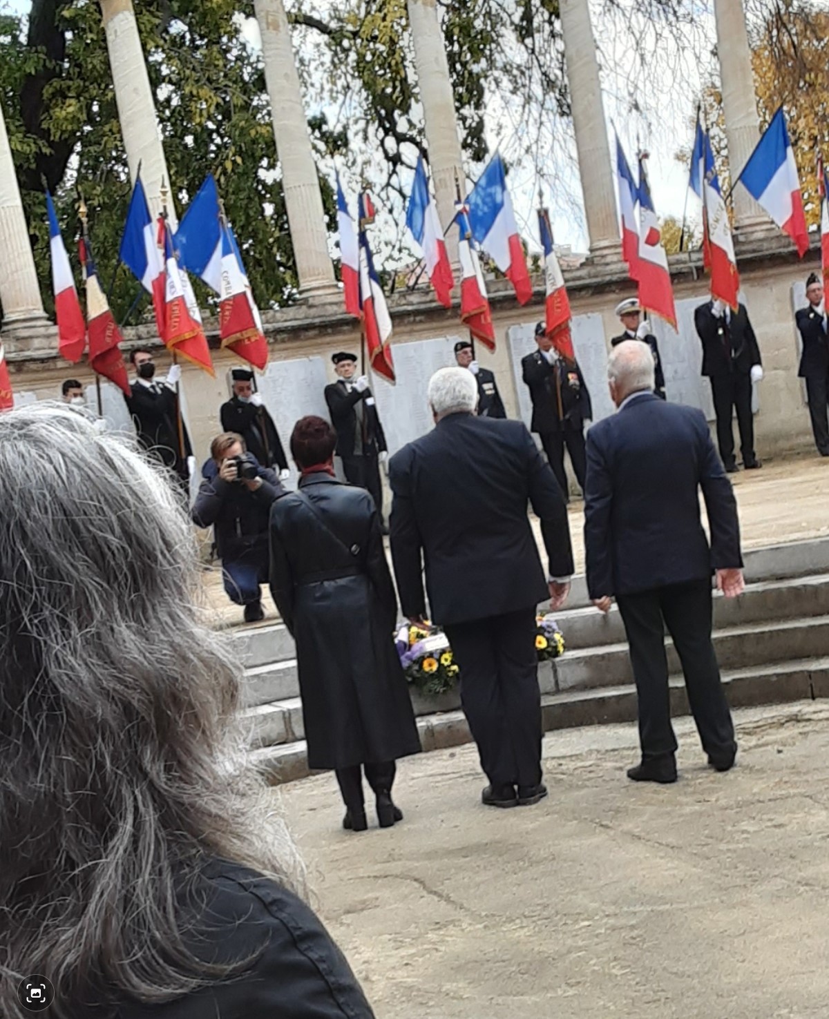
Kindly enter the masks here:
[[493, 785], [541, 781], [535, 609], [445, 628], [461, 667], [461, 703]]

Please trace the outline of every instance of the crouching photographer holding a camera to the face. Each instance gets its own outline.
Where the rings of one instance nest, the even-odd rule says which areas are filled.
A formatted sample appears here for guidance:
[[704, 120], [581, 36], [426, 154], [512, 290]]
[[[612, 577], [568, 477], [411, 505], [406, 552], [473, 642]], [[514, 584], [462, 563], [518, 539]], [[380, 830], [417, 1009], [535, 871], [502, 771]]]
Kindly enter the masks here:
[[270, 506], [286, 491], [235, 432], [217, 435], [210, 455], [191, 516], [198, 527], [213, 527], [227, 597], [245, 606], [246, 623], [256, 623], [265, 618]]

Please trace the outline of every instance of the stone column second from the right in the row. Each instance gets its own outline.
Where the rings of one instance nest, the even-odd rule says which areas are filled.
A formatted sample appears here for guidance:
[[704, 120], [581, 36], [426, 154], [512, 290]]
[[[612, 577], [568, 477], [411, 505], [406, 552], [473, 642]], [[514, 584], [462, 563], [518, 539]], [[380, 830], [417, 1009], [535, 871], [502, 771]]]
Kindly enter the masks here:
[[561, 0], [559, 13], [590, 255], [621, 259], [613, 165], [590, 9], [587, 0]]

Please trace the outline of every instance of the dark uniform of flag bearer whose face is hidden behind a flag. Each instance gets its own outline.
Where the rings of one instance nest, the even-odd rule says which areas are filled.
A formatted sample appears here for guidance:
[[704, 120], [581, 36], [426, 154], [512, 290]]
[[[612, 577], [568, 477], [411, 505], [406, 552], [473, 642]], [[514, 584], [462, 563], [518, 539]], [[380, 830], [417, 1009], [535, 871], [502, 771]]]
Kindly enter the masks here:
[[717, 444], [726, 471], [737, 469], [731, 419], [737, 411], [742, 463], [760, 467], [755, 454], [755, 423], [752, 417], [752, 368], [761, 365], [760, 347], [745, 305], [736, 313], [726, 308], [714, 314], [714, 302], [700, 305], [693, 324], [703, 343], [703, 375], [711, 379], [717, 415]]

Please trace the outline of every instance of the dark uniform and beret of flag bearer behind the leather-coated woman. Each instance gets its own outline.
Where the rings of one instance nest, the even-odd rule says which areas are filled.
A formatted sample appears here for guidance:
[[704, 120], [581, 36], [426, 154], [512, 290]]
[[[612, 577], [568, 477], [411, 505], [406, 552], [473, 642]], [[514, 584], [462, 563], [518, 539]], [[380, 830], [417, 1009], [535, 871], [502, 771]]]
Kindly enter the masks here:
[[[335, 354], [332, 360], [339, 364], [341, 360], [357, 358]], [[325, 386], [325, 403], [336, 431], [336, 455], [343, 461], [346, 479], [370, 492], [382, 522], [379, 454], [387, 447], [371, 389], [361, 392], [356, 385], [341, 379]]]

